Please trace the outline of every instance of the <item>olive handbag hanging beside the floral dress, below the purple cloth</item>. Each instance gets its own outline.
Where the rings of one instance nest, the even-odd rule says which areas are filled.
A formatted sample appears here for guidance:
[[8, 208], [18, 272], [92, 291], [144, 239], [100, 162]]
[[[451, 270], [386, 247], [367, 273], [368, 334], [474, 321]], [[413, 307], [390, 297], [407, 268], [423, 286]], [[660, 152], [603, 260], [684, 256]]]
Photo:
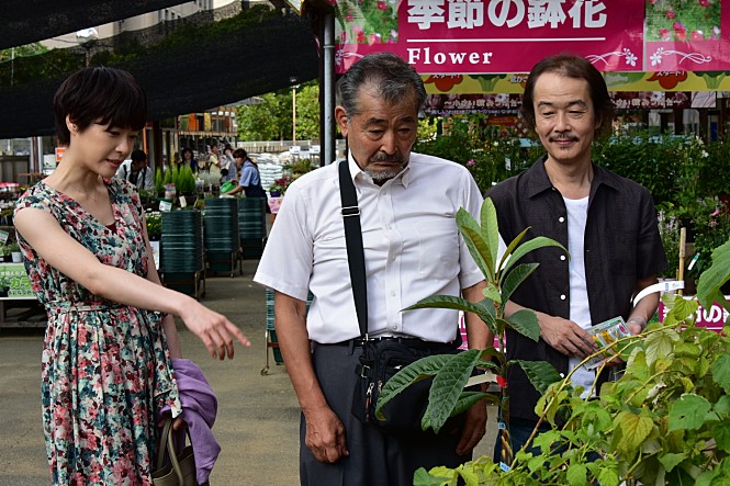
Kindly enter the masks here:
[[[157, 463], [153, 472], [153, 484], [155, 486], [199, 486], [195, 470], [195, 456], [192, 445], [187, 445], [178, 454], [175, 447], [172, 432], [172, 417], [165, 419], [162, 434], [157, 448]], [[169, 463], [165, 463], [165, 452]]]

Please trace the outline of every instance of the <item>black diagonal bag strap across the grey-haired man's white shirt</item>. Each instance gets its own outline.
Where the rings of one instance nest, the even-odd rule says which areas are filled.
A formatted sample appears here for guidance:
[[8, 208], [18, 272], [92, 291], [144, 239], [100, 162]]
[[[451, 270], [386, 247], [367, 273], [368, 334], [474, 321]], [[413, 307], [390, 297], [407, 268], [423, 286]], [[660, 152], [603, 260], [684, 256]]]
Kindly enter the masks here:
[[368, 339], [368, 285], [364, 271], [364, 251], [362, 249], [362, 229], [360, 228], [360, 207], [355, 183], [347, 159], [339, 162], [339, 195], [342, 202], [342, 222], [345, 223], [345, 242], [347, 262], [350, 268], [355, 312], [360, 324], [360, 335]]

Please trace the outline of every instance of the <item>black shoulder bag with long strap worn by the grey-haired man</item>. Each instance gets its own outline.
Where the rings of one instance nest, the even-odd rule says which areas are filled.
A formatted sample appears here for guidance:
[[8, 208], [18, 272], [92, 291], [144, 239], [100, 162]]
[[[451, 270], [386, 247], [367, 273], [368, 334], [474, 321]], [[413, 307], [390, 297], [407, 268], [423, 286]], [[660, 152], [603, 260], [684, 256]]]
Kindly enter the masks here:
[[367, 281], [360, 210], [347, 160], [339, 162], [339, 188], [345, 224], [347, 260], [352, 283], [355, 309], [362, 340], [360, 363], [352, 391], [352, 415], [361, 422], [379, 427], [385, 432], [420, 432], [420, 421], [428, 406], [433, 378], [408, 386], [383, 407], [385, 420], [375, 417], [378, 397], [385, 382], [402, 368], [431, 354], [454, 353], [459, 344], [429, 343], [419, 339], [369, 339]]

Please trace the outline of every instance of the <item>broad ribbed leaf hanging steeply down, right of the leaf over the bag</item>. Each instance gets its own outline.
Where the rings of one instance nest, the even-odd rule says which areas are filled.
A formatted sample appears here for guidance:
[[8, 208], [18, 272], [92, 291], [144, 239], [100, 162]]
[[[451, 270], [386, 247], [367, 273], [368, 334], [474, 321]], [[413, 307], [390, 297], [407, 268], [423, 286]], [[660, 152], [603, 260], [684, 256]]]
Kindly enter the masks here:
[[464, 385], [480, 361], [482, 350], [470, 349], [452, 358], [443, 364], [434, 377], [434, 383], [428, 393], [428, 408], [431, 427], [436, 433], [441, 430], [443, 423], [451, 417], [459, 397], [463, 393]]

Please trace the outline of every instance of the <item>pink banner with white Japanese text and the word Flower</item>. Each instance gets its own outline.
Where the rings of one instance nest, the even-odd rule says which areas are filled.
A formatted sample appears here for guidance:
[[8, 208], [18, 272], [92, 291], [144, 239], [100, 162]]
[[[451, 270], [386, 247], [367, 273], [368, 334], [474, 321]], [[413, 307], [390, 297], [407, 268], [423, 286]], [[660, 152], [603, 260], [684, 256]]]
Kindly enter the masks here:
[[562, 52], [602, 71], [730, 69], [720, 0], [328, 1], [338, 72], [383, 50], [420, 74], [528, 72]]

